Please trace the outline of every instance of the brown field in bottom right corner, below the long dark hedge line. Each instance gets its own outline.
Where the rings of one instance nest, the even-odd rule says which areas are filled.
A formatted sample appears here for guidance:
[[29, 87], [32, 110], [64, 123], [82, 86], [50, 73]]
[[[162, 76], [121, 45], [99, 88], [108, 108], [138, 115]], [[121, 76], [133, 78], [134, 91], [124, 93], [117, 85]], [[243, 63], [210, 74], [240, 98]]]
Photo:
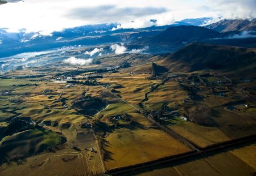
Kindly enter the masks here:
[[[255, 144], [251, 144], [239, 149], [232, 149], [221, 153], [206, 154], [201, 157], [193, 157], [191, 159], [177, 161], [174, 164], [166, 164], [155, 168], [148, 168], [140, 173], [130, 173], [126, 175], [227, 175], [241, 176], [252, 175], [255, 172]], [[245, 152], [249, 154], [253, 152], [253, 156], [249, 156], [249, 164], [245, 162], [245, 156], [236, 156], [234, 152]]]

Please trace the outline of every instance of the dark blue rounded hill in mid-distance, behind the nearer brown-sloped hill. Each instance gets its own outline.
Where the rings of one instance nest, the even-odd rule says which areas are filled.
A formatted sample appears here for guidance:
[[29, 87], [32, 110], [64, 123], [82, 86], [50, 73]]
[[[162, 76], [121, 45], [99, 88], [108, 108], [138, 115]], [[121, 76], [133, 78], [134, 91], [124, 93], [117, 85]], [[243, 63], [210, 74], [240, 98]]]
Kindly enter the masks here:
[[130, 42], [130, 45], [185, 45], [189, 42], [202, 41], [218, 36], [219, 33], [211, 29], [193, 25], [181, 25], [167, 28], [156, 36], [139, 38]]

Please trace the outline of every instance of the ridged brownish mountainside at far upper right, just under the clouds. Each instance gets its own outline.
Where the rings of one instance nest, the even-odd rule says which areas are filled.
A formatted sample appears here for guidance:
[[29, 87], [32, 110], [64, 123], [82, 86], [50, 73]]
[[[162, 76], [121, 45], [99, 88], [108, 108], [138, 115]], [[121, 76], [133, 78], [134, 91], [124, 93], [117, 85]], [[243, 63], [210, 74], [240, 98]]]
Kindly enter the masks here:
[[230, 31], [256, 31], [256, 19], [253, 20], [221, 20], [220, 22], [213, 23], [205, 26], [217, 32], [230, 32]]

